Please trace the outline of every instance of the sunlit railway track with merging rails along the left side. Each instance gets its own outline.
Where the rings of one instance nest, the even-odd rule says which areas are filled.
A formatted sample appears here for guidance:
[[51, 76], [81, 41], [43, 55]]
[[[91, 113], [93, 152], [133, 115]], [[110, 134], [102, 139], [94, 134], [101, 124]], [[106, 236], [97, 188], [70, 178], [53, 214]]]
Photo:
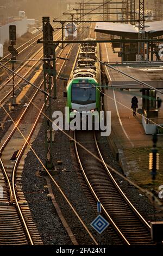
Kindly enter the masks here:
[[[69, 52], [70, 50], [71, 47]], [[61, 50], [60, 55], [64, 51]], [[68, 47], [66, 51], [68, 51]], [[57, 65], [57, 77], [64, 63], [65, 60], [61, 60], [58, 64], [59, 66]], [[39, 88], [42, 86], [43, 81]], [[0, 245], [42, 244], [28, 203], [24, 197], [21, 183], [24, 160], [30, 148], [28, 142], [35, 131], [44, 107], [43, 100], [41, 99], [43, 97], [40, 91], [36, 90], [16, 123], [18, 129], [23, 131], [24, 137], [15, 125], [0, 149], [0, 185], [3, 187], [3, 198], [0, 198]], [[33, 104], [37, 105], [34, 112]], [[32, 119], [31, 115], [27, 115], [27, 112], [32, 113]], [[11, 161], [12, 155], [17, 150], [16, 161]]]

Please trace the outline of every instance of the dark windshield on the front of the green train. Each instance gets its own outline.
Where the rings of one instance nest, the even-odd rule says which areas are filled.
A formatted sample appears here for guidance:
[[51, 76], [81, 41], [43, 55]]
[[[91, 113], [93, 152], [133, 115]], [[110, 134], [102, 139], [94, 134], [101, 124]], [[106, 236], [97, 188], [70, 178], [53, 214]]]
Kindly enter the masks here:
[[96, 87], [92, 83], [74, 83], [71, 93], [72, 103], [86, 105], [96, 102]]

